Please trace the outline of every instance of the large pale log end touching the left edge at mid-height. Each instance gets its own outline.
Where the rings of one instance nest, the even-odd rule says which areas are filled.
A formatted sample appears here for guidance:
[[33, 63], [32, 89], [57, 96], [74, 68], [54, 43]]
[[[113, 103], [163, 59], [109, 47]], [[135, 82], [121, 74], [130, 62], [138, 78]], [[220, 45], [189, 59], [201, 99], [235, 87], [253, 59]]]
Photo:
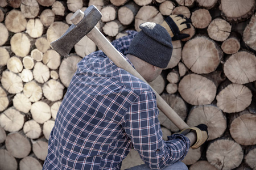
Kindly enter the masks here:
[[9, 94], [18, 94], [23, 90], [23, 83], [20, 76], [8, 70], [3, 71], [1, 83]]

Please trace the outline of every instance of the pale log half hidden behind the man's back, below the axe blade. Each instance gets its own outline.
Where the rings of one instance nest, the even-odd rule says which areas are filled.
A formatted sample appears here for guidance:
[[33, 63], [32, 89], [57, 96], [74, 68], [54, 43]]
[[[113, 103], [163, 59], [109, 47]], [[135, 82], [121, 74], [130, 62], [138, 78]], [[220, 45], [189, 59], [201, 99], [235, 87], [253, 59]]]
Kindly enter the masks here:
[[59, 68], [59, 76], [60, 76], [61, 83], [63, 83], [65, 87], [69, 86], [72, 76], [76, 73], [77, 63], [79, 63], [80, 61], [81, 61], [80, 57], [71, 56], [63, 59], [63, 61], [61, 62], [60, 68]]

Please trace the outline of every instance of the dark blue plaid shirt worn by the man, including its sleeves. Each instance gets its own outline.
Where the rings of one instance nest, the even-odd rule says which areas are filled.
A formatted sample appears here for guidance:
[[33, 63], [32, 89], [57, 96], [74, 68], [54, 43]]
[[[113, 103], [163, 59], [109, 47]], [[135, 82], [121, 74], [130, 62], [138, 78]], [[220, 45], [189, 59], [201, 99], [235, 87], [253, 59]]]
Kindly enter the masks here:
[[[128, 33], [112, 43], [124, 56], [137, 35]], [[43, 169], [120, 169], [133, 147], [152, 169], [184, 159], [189, 139], [174, 134], [164, 141], [158, 114], [147, 83], [101, 50], [89, 54], [77, 64], [60, 105]]]

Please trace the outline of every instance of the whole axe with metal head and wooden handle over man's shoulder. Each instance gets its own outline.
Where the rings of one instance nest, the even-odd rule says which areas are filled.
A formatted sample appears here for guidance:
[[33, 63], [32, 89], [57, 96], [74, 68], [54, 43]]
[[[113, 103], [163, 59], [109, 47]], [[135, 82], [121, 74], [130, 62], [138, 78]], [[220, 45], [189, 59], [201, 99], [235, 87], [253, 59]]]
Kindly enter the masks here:
[[[115, 63], [115, 65], [146, 82], [146, 80], [144, 80], [133, 66], [123, 58], [123, 56], [114, 48], [98, 28], [95, 27], [101, 19], [101, 16], [101, 12], [98, 11], [94, 5], [89, 6], [84, 12], [77, 10], [71, 17], [71, 22], [73, 24], [59, 39], [51, 42], [52, 48], [61, 54], [61, 56], [68, 57], [73, 46], [75, 46], [75, 44], [86, 35]], [[154, 92], [158, 108], [177, 126], [177, 128], [180, 130], [189, 128], [189, 126], [179, 117], [179, 115], [177, 115], [170, 105], [168, 105], [155, 90]]]

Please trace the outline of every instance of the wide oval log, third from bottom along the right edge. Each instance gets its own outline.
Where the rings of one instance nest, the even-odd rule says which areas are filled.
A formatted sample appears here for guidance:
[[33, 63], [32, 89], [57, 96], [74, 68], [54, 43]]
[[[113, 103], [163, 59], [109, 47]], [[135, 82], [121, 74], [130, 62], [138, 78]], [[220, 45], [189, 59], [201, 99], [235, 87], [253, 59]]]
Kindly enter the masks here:
[[229, 84], [216, 96], [217, 107], [223, 112], [241, 112], [251, 104], [251, 91], [241, 84]]

